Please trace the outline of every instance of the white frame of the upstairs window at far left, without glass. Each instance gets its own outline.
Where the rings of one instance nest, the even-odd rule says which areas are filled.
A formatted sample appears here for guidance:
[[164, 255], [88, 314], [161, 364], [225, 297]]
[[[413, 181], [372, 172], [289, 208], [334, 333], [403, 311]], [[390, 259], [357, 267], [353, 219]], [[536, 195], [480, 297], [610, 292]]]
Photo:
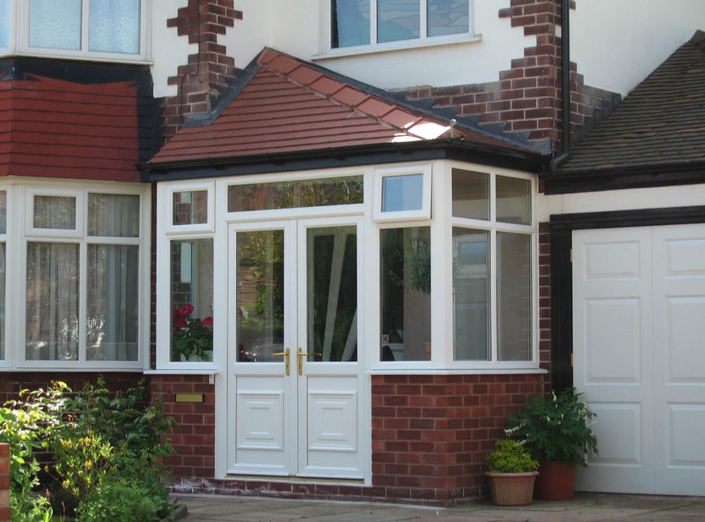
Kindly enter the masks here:
[[[54, 56], [56, 58], [71, 58], [94, 61], [121, 61], [121, 62], [145, 62], [152, 59], [151, 50], [151, 26], [152, 26], [152, 0], [140, 1], [140, 52], [139, 53], [118, 53], [104, 51], [90, 51], [88, 49], [88, 35], [90, 18], [90, 1], [82, 0], [81, 11], [81, 48], [80, 49], [55, 49], [53, 47], [31, 47], [30, 46], [30, 2], [29, 0], [10, 0], [10, 25], [16, 26], [17, 32], [13, 37], [11, 29], [10, 49], [13, 47], [20, 54], [33, 56]], [[13, 8], [13, 4], [19, 4]], [[16, 23], [13, 24], [13, 20]]]

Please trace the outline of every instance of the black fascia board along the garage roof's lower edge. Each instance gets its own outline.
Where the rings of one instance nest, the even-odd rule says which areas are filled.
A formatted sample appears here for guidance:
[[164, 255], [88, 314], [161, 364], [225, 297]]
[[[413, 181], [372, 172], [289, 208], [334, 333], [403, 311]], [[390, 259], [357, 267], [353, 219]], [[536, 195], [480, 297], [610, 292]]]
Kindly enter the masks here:
[[559, 169], [539, 174], [544, 193], [570, 194], [627, 188], [705, 183], [705, 161], [627, 165], [601, 169]]

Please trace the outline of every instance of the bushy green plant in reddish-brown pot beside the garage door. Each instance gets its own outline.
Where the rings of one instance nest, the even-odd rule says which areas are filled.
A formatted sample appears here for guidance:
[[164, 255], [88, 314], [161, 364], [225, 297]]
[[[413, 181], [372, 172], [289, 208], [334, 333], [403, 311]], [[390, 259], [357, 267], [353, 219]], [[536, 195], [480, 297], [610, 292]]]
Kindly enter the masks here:
[[572, 387], [558, 395], [552, 392], [550, 399], [533, 397], [524, 408], [510, 414], [505, 432], [524, 442], [540, 464], [535, 498], [565, 500], [575, 496], [576, 465], [586, 467], [587, 451], [597, 453], [597, 439], [590, 429], [594, 417]]

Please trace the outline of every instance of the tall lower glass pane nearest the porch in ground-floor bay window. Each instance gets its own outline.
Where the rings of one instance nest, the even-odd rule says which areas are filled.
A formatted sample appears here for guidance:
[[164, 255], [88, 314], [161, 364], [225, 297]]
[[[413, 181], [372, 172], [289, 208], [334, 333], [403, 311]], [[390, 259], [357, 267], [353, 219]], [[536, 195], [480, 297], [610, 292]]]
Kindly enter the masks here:
[[88, 245], [88, 360], [137, 360], [137, 245]]

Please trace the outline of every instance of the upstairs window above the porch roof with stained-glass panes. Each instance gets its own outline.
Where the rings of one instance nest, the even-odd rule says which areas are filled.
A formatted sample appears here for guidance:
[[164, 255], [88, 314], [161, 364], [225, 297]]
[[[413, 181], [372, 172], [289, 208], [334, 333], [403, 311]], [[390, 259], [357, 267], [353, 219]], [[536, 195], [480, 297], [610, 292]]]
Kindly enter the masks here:
[[331, 0], [331, 48], [470, 35], [471, 0]]

